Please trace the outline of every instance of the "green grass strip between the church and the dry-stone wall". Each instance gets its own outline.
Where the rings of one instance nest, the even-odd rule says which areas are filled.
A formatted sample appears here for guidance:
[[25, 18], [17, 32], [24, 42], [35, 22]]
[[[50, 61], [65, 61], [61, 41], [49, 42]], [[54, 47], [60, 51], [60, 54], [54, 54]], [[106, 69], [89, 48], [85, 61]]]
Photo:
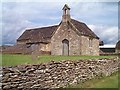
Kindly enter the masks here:
[[2, 54], [2, 66], [15, 66], [20, 64], [38, 64], [43, 62], [49, 62], [51, 60], [80, 60], [80, 59], [96, 59], [96, 58], [112, 58], [113, 56], [39, 56], [38, 60], [32, 60], [31, 55], [19, 55], [19, 54]]

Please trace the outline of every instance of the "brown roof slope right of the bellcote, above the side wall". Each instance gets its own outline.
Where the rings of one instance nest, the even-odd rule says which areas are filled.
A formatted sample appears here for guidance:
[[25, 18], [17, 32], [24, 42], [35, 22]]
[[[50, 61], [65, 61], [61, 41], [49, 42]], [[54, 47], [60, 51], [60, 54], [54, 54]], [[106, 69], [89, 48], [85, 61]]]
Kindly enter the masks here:
[[72, 24], [79, 30], [82, 35], [91, 36], [99, 39], [99, 37], [85, 24], [77, 20], [71, 19]]

